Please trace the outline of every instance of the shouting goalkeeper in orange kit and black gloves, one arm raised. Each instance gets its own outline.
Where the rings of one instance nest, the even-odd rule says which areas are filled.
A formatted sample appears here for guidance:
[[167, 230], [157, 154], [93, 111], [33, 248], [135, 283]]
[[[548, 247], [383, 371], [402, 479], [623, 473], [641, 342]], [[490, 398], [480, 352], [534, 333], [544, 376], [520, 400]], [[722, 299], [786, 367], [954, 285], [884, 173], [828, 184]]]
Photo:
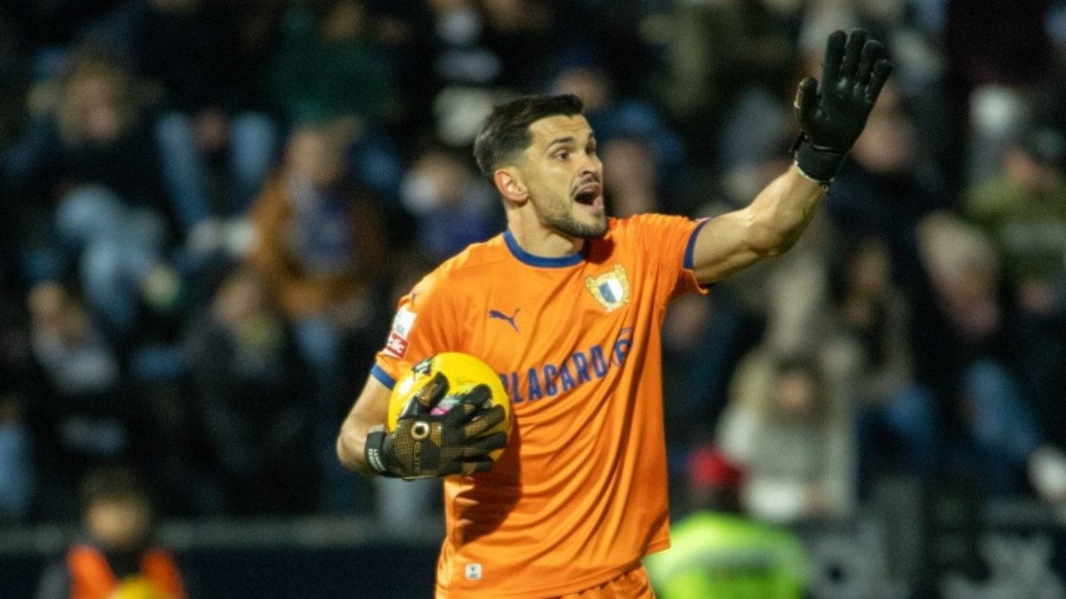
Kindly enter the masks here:
[[[861, 31], [830, 35], [821, 88], [808, 78], [796, 94], [795, 166], [709, 221], [608, 218], [596, 139], [574, 96], [520, 98], [488, 116], [474, 156], [507, 230], [401, 300], [337, 442], [359, 472], [458, 474], [445, 482], [438, 597], [653, 597], [641, 558], [669, 546], [665, 307], [796, 241], [891, 70], [881, 54]], [[438, 394], [416, 395], [422, 406], [384, 431], [395, 379], [443, 351], [500, 373], [510, 441], [483, 433], [501, 407], [471, 401], [432, 416]], [[494, 465], [488, 452], [505, 442]]]

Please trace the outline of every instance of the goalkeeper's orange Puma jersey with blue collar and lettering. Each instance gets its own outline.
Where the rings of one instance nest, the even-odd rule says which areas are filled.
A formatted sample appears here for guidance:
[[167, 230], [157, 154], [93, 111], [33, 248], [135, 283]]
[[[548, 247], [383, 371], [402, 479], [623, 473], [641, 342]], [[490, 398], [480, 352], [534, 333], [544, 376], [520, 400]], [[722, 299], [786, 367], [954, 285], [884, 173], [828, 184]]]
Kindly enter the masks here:
[[427, 356], [484, 359], [511, 395], [492, 470], [445, 482], [438, 597], [576, 593], [665, 549], [660, 330], [699, 288], [701, 223], [641, 215], [562, 258], [510, 232], [471, 245], [403, 297], [372, 374], [388, 387]]

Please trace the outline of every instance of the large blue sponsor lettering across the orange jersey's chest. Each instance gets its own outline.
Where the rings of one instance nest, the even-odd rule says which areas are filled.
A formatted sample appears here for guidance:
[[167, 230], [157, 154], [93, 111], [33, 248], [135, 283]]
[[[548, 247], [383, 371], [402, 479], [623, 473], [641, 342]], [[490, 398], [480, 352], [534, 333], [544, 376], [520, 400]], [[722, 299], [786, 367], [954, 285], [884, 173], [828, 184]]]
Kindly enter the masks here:
[[500, 373], [500, 381], [514, 404], [556, 398], [621, 368], [632, 345], [633, 329], [626, 327], [613, 343], [597, 343], [554, 363]]

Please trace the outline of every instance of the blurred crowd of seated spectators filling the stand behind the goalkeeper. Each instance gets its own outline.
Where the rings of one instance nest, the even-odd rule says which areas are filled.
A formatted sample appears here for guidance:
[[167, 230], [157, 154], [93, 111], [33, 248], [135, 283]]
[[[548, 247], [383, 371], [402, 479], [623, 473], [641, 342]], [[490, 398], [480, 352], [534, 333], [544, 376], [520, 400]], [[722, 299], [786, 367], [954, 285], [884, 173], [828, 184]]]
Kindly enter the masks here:
[[0, 522], [113, 464], [164, 517], [405, 505], [334, 439], [397, 298], [504, 226], [488, 108], [578, 94], [614, 215], [713, 216], [854, 27], [895, 72], [810, 230], [667, 317], [672, 475], [714, 448], [777, 522], [886, 476], [1063, 508], [1066, 2], [3, 0]]

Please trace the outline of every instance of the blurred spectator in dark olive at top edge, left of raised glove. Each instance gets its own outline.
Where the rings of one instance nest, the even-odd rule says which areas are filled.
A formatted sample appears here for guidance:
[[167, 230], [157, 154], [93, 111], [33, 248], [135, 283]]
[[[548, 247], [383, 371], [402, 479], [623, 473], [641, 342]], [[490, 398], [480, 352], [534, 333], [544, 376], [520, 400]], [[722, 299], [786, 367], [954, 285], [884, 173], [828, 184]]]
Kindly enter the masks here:
[[713, 176], [711, 165], [757, 160], [789, 126], [781, 109], [796, 59], [795, 7], [787, 4], [692, 2], [662, 17], [664, 64], [651, 78], [652, 94], [679, 124], [700, 180]]

